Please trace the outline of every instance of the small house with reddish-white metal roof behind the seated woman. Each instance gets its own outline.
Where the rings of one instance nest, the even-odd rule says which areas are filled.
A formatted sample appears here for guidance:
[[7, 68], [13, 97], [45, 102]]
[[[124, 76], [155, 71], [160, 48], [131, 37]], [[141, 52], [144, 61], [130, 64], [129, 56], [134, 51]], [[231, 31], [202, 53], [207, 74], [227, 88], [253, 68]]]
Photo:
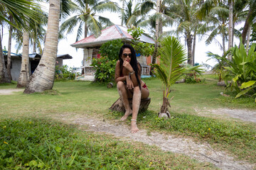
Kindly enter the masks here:
[[[82, 60], [82, 69], [84, 72], [84, 76], [82, 77], [82, 79], [94, 80], [95, 70], [92, 66], [90, 66], [90, 64], [92, 64], [92, 58], [100, 57], [99, 51], [103, 43], [117, 39], [121, 39], [124, 43], [132, 43], [132, 35], [130, 35], [127, 30], [128, 28], [124, 28], [123, 26], [110, 26], [102, 30], [101, 35], [97, 38], [95, 38], [94, 35], [90, 35], [89, 37], [79, 40], [78, 42], [75, 42], [71, 45], [72, 47], [82, 48], [84, 50], [84, 56]], [[140, 41], [154, 44], [154, 40], [147, 37], [146, 35], [141, 35]], [[139, 56], [137, 57], [137, 60], [142, 65], [142, 77], [150, 77], [149, 64], [152, 61], [151, 56]]]

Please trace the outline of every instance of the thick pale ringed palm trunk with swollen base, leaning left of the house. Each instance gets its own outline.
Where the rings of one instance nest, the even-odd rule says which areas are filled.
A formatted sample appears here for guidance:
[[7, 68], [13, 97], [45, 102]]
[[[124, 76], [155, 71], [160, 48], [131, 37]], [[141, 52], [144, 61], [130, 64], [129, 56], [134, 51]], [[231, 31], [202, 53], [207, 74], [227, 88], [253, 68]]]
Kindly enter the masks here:
[[55, 62], [58, 48], [58, 28], [60, 18], [60, 0], [49, 2], [48, 29], [46, 32], [46, 45], [41, 61], [32, 74], [24, 91], [25, 94], [41, 92], [53, 88]]

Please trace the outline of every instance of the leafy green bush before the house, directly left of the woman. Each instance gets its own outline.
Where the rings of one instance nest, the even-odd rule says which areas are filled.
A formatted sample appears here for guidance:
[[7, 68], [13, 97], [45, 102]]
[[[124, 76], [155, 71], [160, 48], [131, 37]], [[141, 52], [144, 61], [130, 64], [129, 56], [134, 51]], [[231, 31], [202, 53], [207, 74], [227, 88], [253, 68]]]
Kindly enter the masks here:
[[93, 59], [91, 66], [96, 70], [95, 81], [100, 83], [114, 81], [114, 69], [116, 64], [117, 60], [110, 60], [108, 57]]

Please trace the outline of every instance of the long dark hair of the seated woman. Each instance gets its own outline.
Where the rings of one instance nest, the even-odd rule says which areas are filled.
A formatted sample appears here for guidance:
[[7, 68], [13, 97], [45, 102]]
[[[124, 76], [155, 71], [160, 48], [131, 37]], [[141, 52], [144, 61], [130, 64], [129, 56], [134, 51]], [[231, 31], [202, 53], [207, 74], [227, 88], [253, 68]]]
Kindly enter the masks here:
[[[132, 52], [132, 58], [131, 58], [131, 66], [132, 66], [132, 69], [134, 69], [134, 74], [136, 76], [136, 79], [138, 81], [138, 84], [139, 84], [139, 89], [141, 89], [141, 84], [140, 84], [140, 81], [139, 81], [139, 68], [138, 68], [138, 63], [137, 62], [137, 57], [136, 57], [136, 53], [135, 53], [135, 50], [134, 50], [134, 47], [132, 47], [132, 45], [128, 45], [128, 44], [125, 44], [121, 47], [120, 51], [119, 51], [119, 63], [120, 63], [120, 70], [122, 72], [122, 64], [124, 63], [124, 61], [122, 60], [122, 53], [124, 51], [125, 48], [129, 48], [129, 50], [131, 50]], [[141, 67], [141, 65], [139, 64], [139, 66]], [[142, 69], [142, 67], [141, 67]], [[142, 72], [142, 70], [141, 70]]]

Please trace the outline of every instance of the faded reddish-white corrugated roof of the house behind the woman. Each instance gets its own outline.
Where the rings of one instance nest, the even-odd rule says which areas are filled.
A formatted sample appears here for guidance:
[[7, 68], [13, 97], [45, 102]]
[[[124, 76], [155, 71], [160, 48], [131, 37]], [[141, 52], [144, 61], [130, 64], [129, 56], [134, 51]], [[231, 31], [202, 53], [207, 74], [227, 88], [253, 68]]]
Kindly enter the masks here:
[[[132, 35], [127, 33], [127, 29], [128, 28], [124, 28], [123, 26], [118, 25], [110, 26], [102, 30], [102, 33], [98, 38], [95, 38], [94, 35], [90, 35], [87, 38], [84, 38], [82, 40], [79, 40], [78, 42], [73, 43], [71, 46], [78, 48], [95, 47], [100, 46], [107, 41], [117, 39], [122, 39], [125, 42], [132, 42]], [[147, 37], [146, 35], [142, 35], [140, 37], [140, 41], [154, 44], [154, 40]]]

